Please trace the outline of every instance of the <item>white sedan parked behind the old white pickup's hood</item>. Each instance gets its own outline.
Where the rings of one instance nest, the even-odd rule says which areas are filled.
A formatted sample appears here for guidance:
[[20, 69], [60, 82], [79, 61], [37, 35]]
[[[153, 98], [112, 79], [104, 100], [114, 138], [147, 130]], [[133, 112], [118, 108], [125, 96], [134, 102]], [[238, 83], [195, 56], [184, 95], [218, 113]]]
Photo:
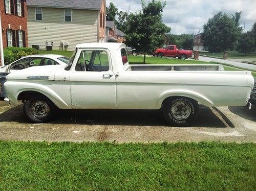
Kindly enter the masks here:
[[5, 83], [8, 74], [31, 66], [62, 65], [65, 67], [68, 62], [69, 58], [61, 55], [29, 55], [22, 57], [9, 65], [0, 67], [0, 100], [4, 100], [6, 97], [3, 84]]

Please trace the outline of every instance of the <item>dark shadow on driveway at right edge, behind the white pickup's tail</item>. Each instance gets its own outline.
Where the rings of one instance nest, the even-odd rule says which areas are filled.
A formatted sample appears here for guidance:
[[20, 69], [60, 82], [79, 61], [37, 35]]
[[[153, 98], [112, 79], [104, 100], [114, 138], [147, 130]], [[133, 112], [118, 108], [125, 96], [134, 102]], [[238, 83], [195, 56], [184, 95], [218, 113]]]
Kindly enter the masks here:
[[228, 109], [243, 118], [246, 118], [246, 120], [250, 120], [253, 122], [256, 122], [256, 106], [251, 106], [251, 109], [249, 110], [248, 107], [228, 107]]

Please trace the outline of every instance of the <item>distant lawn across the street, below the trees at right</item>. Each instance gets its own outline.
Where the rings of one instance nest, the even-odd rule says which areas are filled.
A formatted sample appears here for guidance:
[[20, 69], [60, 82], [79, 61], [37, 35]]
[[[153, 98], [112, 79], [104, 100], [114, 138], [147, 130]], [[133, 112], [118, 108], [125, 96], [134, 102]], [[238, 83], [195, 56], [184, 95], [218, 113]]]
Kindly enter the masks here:
[[[201, 52], [200, 54], [206, 55], [206, 56], [212, 56], [216, 58], [223, 58], [223, 53]], [[237, 51], [228, 51], [228, 58], [231, 58], [231, 59], [256, 58], [256, 53], [248, 53], [246, 54], [246, 56], [244, 56], [244, 53], [239, 53]]]

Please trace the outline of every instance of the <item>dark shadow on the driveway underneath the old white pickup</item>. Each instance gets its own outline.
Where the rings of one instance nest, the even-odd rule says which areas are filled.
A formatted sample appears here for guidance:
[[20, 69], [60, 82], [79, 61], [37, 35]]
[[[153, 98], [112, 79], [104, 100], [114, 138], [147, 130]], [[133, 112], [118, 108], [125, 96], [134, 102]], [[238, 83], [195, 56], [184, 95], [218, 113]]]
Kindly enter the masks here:
[[[13, 107], [1, 113], [0, 122], [31, 124], [23, 113], [23, 105]], [[49, 123], [80, 125], [168, 126], [162, 117], [161, 110], [58, 110], [56, 113], [56, 118]], [[212, 112], [210, 108], [200, 106], [199, 116], [194, 125], [191, 127], [225, 128], [228, 127], [226, 124], [229, 125], [230, 123], [230, 121], [228, 123], [223, 123], [223, 120]]]

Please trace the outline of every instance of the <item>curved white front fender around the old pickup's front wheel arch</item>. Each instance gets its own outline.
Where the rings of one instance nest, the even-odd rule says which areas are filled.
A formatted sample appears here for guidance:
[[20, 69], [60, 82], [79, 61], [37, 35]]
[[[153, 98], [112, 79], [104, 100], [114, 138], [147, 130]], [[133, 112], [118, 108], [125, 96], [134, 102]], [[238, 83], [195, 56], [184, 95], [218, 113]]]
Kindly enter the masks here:
[[17, 104], [17, 98], [20, 93], [24, 91], [35, 91], [49, 98], [58, 108], [71, 109], [71, 106], [69, 106], [65, 101], [63, 101], [63, 99], [61, 99], [55, 91], [42, 84], [31, 82], [7, 81], [4, 84], [4, 88], [6, 90], [6, 94], [9, 98], [9, 103], [11, 105]]

